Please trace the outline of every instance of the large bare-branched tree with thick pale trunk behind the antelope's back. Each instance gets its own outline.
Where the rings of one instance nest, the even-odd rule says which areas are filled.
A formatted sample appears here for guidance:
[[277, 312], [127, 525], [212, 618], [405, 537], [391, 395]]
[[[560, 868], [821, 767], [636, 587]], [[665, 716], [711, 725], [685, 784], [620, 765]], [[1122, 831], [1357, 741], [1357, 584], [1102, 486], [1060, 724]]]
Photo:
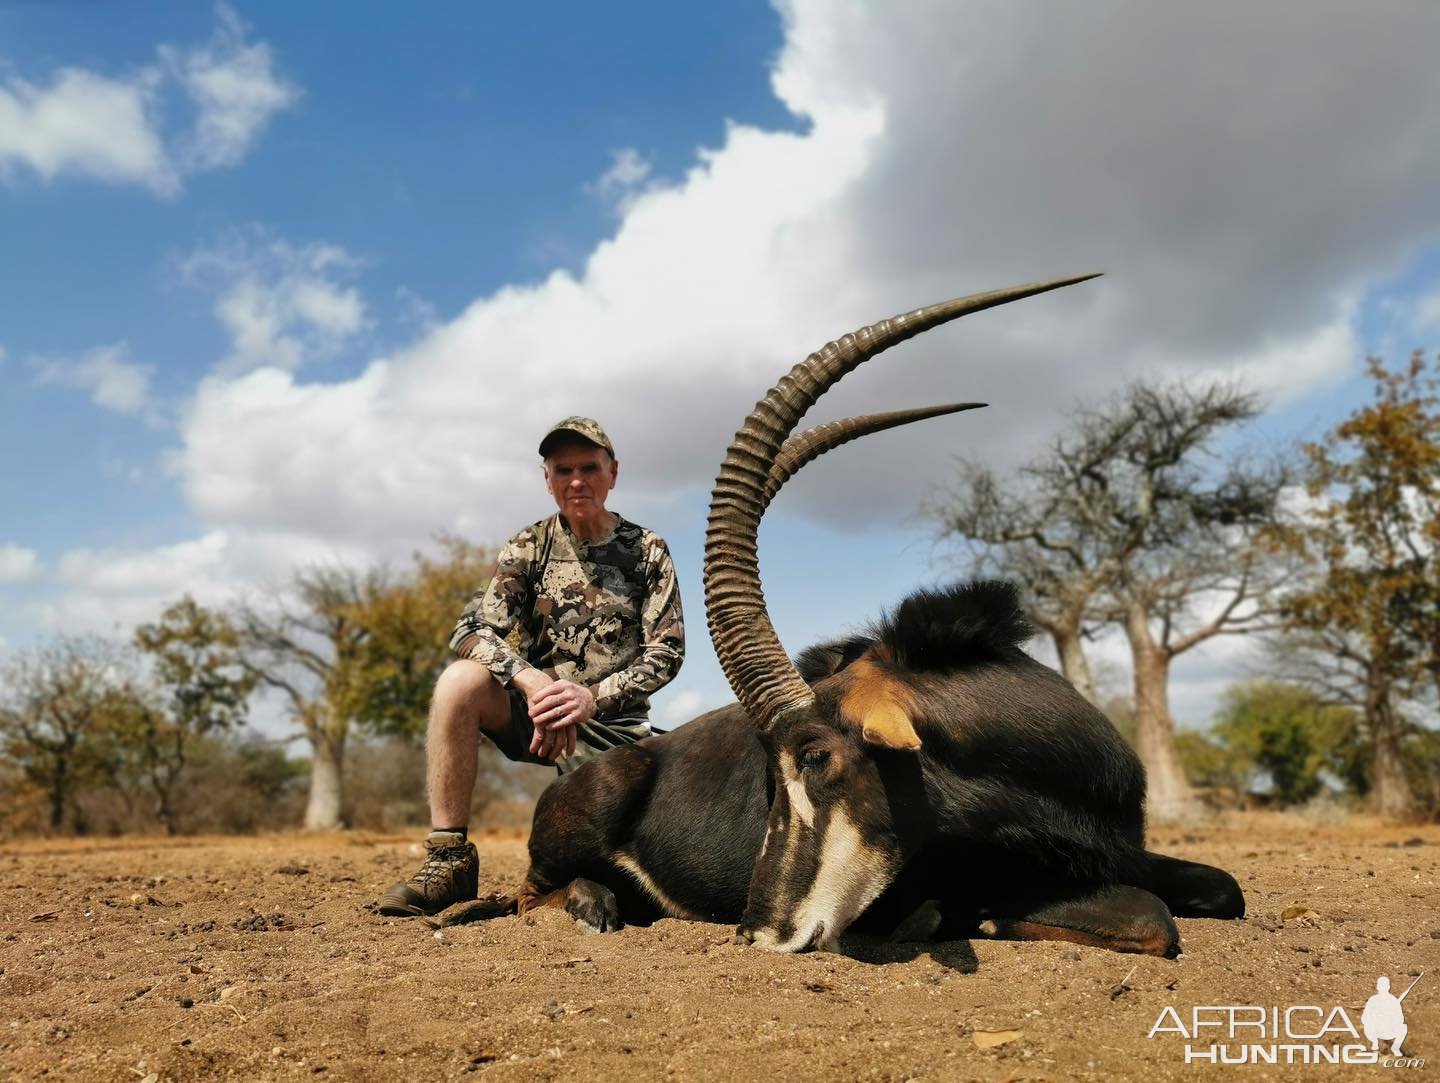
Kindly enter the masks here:
[[981, 565], [1037, 593], [1032, 618], [1056, 637], [1066, 674], [1092, 700], [1086, 625], [1125, 631], [1152, 814], [1185, 815], [1192, 798], [1175, 747], [1171, 662], [1270, 619], [1279, 572], [1260, 537], [1286, 472], [1211, 451], [1220, 433], [1257, 413], [1257, 399], [1230, 385], [1136, 383], [1081, 410], [1014, 478], [965, 467], [942, 518], [945, 534], [972, 540]]

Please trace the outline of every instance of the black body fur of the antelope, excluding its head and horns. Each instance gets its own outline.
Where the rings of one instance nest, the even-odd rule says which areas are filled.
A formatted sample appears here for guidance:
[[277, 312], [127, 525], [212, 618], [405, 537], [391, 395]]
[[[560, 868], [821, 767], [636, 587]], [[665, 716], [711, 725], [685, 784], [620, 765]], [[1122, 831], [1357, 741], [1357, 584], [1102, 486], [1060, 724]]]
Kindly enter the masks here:
[[[1115, 933], [1125, 945], [1169, 943], [1171, 912], [1243, 913], [1223, 871], [1145, 851], [1139, 760], [1060, 674], [1020, 650], [1030, 635], [1012, 585], [975, 582], [917, 592], [867, 634], [801, 654], [818, 716], [806, 724], [845, 724], [837, 722], [845, 670], [861, 657], [901, 681], [919, 711], [919, 753], [874, 753], [906, 864], [861, 925], [893, 927], [940, 899], [952, 933], [985, 916], [1021, 932], [1051, 929], [1057, 913], [1093, 930], [1110, 927], [1106, 915], [1119, 922], [1116, 899], [1133, 909], [1155, 893], [1153, 920]], [[557, 779], [536, 808], [526, 891], [556, 893], [583, 877], [595, 881], [588, 913], [599, 886], [613, 893], [615, 920], [660, 916], [612, 860], [624, 853], [685, 912], [734, 922], [772, 796], [766, 750], [744, 711], [711, 711]], [[1122, 886], [1139, 896], [1116, 894]]]

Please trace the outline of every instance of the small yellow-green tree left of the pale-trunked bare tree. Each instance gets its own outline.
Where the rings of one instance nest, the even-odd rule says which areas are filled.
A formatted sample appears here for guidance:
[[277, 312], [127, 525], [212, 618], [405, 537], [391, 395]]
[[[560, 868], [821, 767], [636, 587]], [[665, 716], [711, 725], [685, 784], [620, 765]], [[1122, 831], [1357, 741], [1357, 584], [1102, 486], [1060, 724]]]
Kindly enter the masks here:
[[151, 660], [156, 693], [134, 697], [125, 733], [135, 770], [156, 796], [156, 815], [173, 835], [176, 789], [196, 740], [245, 722], [258, 677], [240, 660], [236, 628], [189, 595], [154, 624], [140, 625], [132, 642]]

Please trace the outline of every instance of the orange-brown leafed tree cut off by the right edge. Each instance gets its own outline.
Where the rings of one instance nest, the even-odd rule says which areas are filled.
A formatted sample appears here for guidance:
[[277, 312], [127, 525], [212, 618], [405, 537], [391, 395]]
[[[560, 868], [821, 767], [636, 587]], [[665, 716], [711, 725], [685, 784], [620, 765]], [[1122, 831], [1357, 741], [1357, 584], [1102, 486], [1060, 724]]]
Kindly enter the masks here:
[[1305, 446], [1312, 505], [1282, 531], [1318, 573], [1286, 599], [1292, 668], [1358, 707], [1378, 812], [1410, 817], [1403, 704], [1440, 683], [1440, 379], [1371, 359], [1374, 400]]

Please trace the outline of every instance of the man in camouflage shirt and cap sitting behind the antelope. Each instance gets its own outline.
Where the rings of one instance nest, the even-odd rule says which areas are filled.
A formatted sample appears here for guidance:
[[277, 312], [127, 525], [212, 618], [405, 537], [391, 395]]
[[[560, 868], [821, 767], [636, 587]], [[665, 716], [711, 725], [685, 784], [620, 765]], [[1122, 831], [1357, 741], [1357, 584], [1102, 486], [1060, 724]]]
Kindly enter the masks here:
[[384, 893], [382, 913], [432, 915], [475, 897], [467, 828], [481, 733], [510, 759], [564, 773], [647, 736], [649, 694], [680, 671], [675, 569], [657, 533], [605, 507], [619, 477], [609, 436], [590, 418], [566, 418], [540, 457], [559, 511], [510, 539], [455, 625], [458, 660], [435, 684], [426, 737], [425, 864]]

